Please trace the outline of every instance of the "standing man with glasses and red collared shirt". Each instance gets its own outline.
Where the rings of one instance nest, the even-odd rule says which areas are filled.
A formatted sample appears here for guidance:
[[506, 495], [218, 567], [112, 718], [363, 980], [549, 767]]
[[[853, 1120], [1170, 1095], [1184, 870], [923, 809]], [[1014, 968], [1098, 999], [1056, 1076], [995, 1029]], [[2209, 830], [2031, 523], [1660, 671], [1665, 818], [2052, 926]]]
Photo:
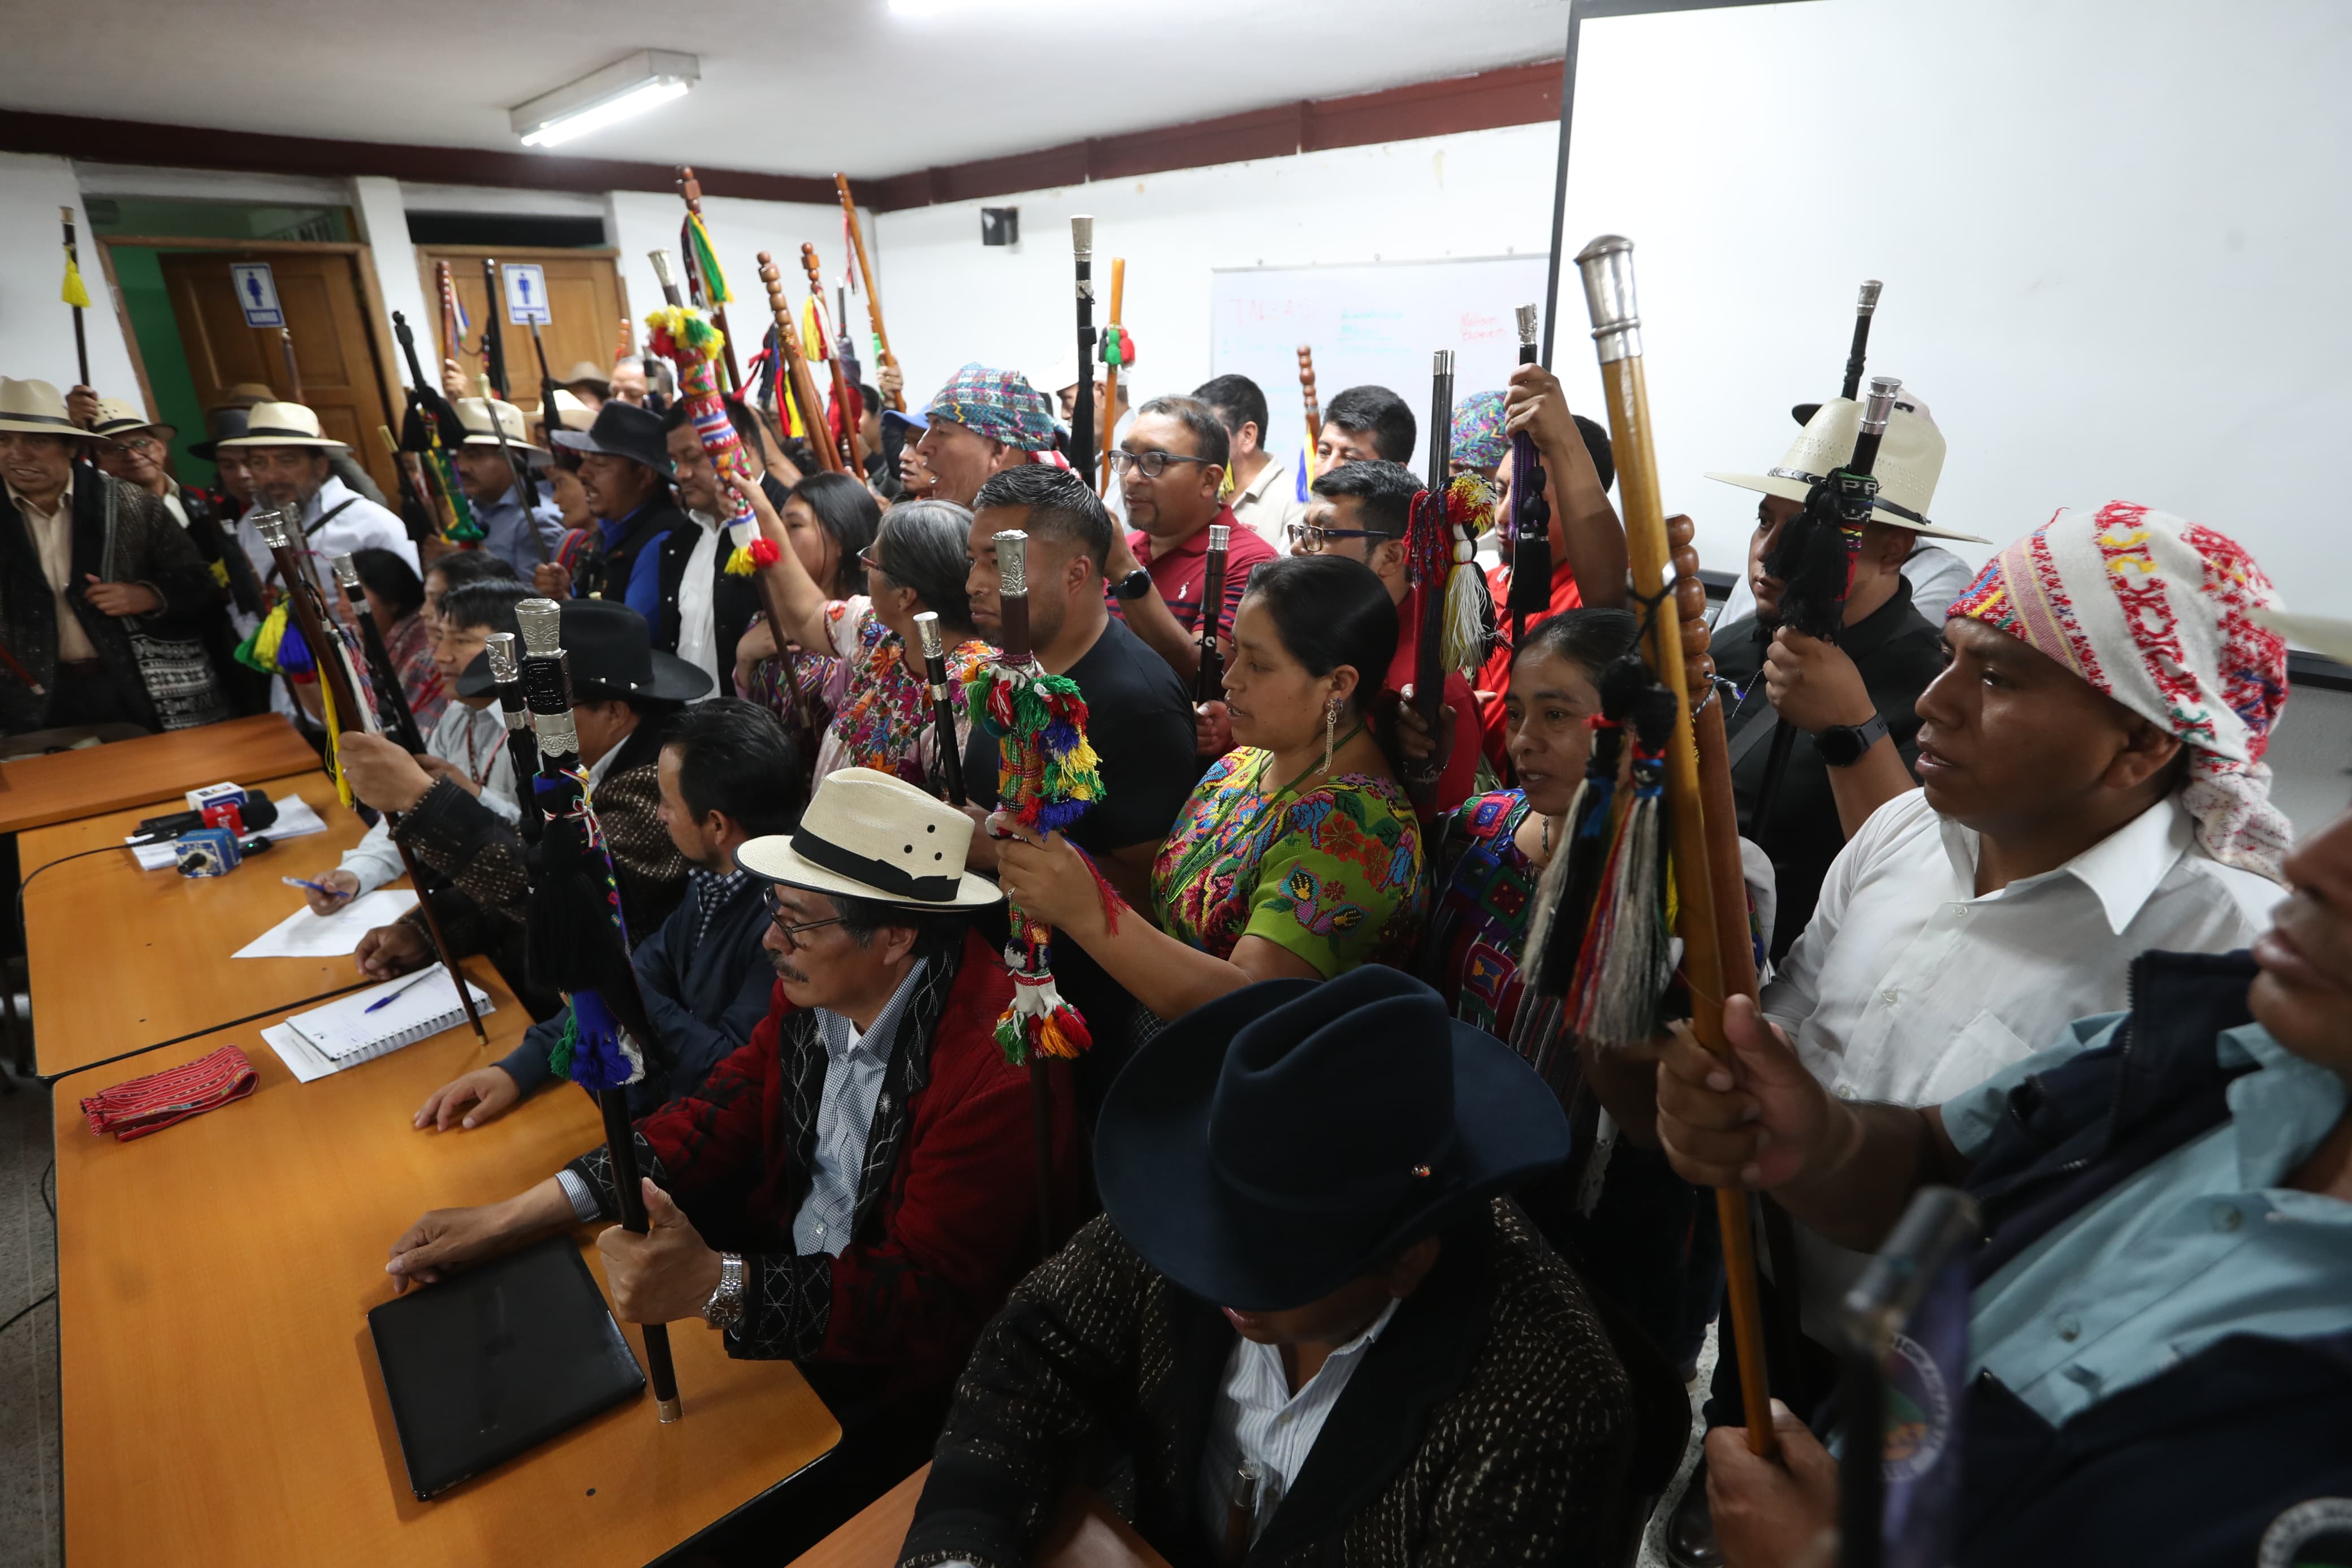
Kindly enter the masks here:
[[1225, 581], [1216, 635], [1232, 637], [1249, 569], [1275, 559], [1275, 548], [1235, 522], [1218, 498], [1225, 487], [1230, 437], [1225, 423], [1197, 397], [1155, 397], [1136, 409], [1127, 440], [1110, 454], [1127, 501], [1131, 534], [1115, 534], [1105, 576], [1112, 614], [1169, 661], [1178, 679], [1200, 675], [1200, 602], [1207, 592], [1209, 529], [1228, 529]]

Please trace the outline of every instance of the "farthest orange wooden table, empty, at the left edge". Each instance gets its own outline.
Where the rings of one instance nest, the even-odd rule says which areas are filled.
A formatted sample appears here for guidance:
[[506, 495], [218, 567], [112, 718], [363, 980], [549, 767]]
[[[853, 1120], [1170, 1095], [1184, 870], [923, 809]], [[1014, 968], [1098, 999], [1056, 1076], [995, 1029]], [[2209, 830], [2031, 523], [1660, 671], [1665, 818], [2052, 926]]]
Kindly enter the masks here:
[[256, 783], [299, 769], [315, 773], [318, 752], [273, 712], [85, 745], [78, 752], [21, 757], [0, 762], [0, 832], [71, 823], [78, 816], [172, 799], [209, 783]]

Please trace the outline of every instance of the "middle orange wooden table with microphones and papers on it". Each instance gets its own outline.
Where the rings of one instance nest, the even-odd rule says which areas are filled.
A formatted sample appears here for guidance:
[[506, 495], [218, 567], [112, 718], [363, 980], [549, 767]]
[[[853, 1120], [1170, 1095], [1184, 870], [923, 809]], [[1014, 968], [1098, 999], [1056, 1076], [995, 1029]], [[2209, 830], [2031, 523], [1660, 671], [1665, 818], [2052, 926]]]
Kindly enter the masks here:
[[[122, 743], [129, 745], [136, 743]], [[181, 877], [172, 867], [143, 872], [129, 849], [118, 849], [54, 865], [24, 889], [33, 1046], [42, 1077], [219, 1030], [270, 1009], [292, 1009], [360, 980], [350, 954], [230, 957], [303, 907], [301, 889], [285, 886], [280, 877], [320, 877], [334, 870], [343, 851], [367, 832], [315, 766], [238, 783], [259, 785], [270, 799], [301, 795], [327, 823], [327, 832], [285, 839], [226, 877]], [[26, 832], [16, 842], [19, 875], [33, 875], [82, 849], [120, 846], [143, 816], [155, 816], [153, 802]], [[136, 1072], [148, 1067], [132, 1067], [125, 1077]], [[71, 1095], [61, 1088], [59, 1098]]]

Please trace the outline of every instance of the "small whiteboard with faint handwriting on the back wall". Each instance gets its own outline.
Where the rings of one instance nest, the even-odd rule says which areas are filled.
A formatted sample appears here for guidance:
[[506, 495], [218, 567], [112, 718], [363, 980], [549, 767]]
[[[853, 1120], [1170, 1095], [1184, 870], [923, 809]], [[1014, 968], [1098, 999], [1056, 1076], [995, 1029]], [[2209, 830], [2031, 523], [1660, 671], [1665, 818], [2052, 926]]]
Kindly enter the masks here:
[[1378, 261], [1364, 266], [1218, 268], [1209, 289], [1209, 374], [1265, 393], [1270, 451], [1305, 447], [1298, 346], [1315, 348], [1324, 407], [1350, 386], [1385, 386], [1414, 409], [1428, 451], [1430, 355], [1454, 350], [1454, 397], [1501, 390], [1519, 362], [1519, 306], [1543, 299], [1545, 256]]

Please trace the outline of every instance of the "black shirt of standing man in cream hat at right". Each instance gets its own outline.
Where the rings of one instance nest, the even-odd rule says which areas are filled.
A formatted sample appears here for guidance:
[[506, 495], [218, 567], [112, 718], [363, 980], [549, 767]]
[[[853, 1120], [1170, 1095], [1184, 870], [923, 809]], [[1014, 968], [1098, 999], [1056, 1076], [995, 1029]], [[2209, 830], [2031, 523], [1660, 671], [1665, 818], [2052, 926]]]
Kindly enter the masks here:
[[[1745, 693], [1745, 698], [1729, 698], [1731, 705], [1724, 710], [1724, 733], [1731, 745], [1731, 797], [1740, 809], [1740, 835], [1755, 839], [1771, 856], [1778, 879], [1778, 912], [1771, 931], [1771, 954], [1778, 959], [1813, 919], [1830, 860], [1846, 846], [1846, 830], [1837, 823], [1830, 764], [1820, 759], [1813, 738], [1802, 731], [1790, 748], [1780, 792], [1771, 802], [1771, 820], [1755, 820], [1757, 795], [1764, 790], [1764, 769], [1771, 759], [1771, 731], [1776, 729], [1762, 677], [1771, 635], [1759, 632], [1755, 616], [1743, 616], [1717, 630], [1710, 646], [1717, 675]], [[1912, 766], [1919, 757], [1919, 712], [1912, 703], [1943, 670], [1943, 632], [1912, 609], [1910, 583], [1896, 578], [1896, 595], [1849, 625], [1837, 646], [1863, 672], [1863, 686], [1879, 717], [1886, 719], [1886, 731], [1903, 752], [1903, 766]]]

